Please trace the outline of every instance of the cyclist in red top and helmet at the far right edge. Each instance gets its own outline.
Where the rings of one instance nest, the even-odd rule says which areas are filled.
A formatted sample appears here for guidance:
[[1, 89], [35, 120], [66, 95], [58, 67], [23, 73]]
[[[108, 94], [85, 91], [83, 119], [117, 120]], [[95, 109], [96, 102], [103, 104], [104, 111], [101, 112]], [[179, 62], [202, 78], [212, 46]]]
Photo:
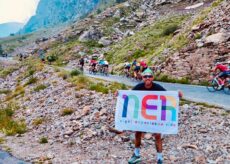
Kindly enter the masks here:
[[225, 79], [228, 77], [228, 76], [230, 76], [230, 69], [228, 69], [228, 66], [226, 66], [226, 65], [224, 65], [224, 64], [222, 64], [222, 63], [219, 63], [219, 62], [217, 62], [216, 64], [215, 64], [215, 68], [213, 69], [213, 72], [220, 72], [219, 74], [218, 74], [218, 77], [217, 77], [217, 79], [218, 79], [218, 82], [219, 82], [219, 87], [218, 87], [218, 89], [221, 89], [221, 88], [223, 88], [223, 86], [224, 86], [224, 82], [225, 82]]

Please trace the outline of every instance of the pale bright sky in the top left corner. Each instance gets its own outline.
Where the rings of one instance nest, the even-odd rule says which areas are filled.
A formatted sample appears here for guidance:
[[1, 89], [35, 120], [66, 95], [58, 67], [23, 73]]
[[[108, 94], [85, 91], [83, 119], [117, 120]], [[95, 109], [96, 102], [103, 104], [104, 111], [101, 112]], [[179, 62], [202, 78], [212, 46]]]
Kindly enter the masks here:
[[26, 23], [35, 14], [39, 0], [0, 0], [0, 24]]

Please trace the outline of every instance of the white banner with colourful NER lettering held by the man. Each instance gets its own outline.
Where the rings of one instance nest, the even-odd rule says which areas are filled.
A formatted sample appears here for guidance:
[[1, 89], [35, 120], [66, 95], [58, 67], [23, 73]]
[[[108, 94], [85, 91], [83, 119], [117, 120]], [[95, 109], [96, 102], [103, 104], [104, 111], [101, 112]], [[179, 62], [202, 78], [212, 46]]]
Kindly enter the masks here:
[[176, 91], [120, 90], [115, 128], [150, 133], [178, 133], [179, 95]]

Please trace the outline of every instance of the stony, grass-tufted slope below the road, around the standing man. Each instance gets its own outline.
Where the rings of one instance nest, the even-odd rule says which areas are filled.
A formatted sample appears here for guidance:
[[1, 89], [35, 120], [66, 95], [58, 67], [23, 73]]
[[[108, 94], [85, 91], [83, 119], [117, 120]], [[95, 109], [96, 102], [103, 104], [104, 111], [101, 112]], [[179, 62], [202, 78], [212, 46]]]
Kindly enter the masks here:
[[[113, 95], [84, 89], [90, 84], [82, 76], [29, 63], [0, 78], [1, 111], [17, 121], [8, 127], [1, 117], [1, 147], [32, 163], [127, 163], [134, 136], [114, 129]], [[179, 120], [179, 134], [164, 136], [165, 163], [229, 162], [229, 113], [182, 101]], [[154, 147], [145, 134], [144, 163], [155, 162]]]

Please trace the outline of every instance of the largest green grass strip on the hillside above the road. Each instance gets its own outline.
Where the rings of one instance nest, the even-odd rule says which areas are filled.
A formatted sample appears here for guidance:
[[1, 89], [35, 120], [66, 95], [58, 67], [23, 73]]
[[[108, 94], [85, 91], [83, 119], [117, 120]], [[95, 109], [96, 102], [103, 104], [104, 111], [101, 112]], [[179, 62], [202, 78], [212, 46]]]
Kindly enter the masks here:
[[172, 31], [179, 28], [188, 18], [188, 15], [174, 16], [157, 21], [135, 35], [125, 38], [120, 44], [112, 46], [105, 55], [106, 59], [111, 63], [123, 63], [125, 60], [131, 62], [142, 57], [151, 60], [150, 58], [159, 55], [167, 47], [173, 38]]

